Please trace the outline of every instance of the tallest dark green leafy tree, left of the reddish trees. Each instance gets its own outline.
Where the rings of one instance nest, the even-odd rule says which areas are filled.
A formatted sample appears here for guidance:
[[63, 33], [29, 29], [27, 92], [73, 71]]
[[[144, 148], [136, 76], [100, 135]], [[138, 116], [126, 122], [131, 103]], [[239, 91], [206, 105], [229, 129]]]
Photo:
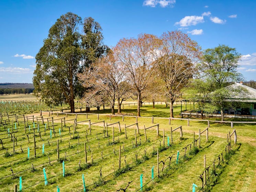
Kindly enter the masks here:
[[48, 105], [68, 103], [71, 113], [75, 112], [74, 99], [84, 93], [77, 74], [106, 50], [100, 25], [86, 18], [84, 34], [80, 34], [81, 25], [82, 19], [71, 12], [57, 19], [36, 55], [33, 77], [35, 95]]

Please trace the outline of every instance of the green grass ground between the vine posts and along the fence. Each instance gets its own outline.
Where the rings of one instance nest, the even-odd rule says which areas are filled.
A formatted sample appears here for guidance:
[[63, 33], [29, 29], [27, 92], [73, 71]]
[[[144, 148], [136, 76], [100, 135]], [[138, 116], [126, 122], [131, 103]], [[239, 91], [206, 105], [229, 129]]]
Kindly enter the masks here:
[[[185, 107], [185, 106], [184, 106]], [[82, 183], [82, 174], [85, 176], [87, 191], [116, 191], [125, 188], [127, 183], [132, 181], [126, 191], [140, 191], [140, 175], [143, 174], [143, 191], [192, 191], [192, 183], [198, 185], [196, 191], [199, 191], [202, 182], [199, 178], [203, 172], [203, 155], [206, 155], [207, 166], [211, 165], [215, 159], [218, 164], [218, 156], [225, 155], [225, 146], [227, 145], [227, 133], [233, 130], [230, 123], [210, 123], [209, 141], [206, 142], [205, 134], [201, 137], [201, 148], [198, 153], [190, 154], [190, 144], [193, 142], [193, 133], [198, 138], [199, 129], [204, 130], [207, 122], [191, 121], [190, 126], [187, 121], [154, 119], [154, 124], [159, 123], [159, 133], [157, 137], [156, 128], [146, 130], [147, 139], [145, 140], [145, 127], [152, 126], [151, 117], [168, 117], [169, 108], [164, 105], [152, 105], [142, 107], [142, 116], [138, 117], [138, 126], [140, 134], [137, 134], [137, 146], [135, 145], [134, 129], [135, 126], [126, 128], [127, 138], [125, 138], [124, 127], [136, 122], [135, 117], [112, 116], [111, 121], [109, 110], [91, 111], [91, 113], [100, 113], [99, 120], [97, 115], [88, 115], [91, 123], [105, 121], [111, 124], [120, 122], [121, 133], [118, 131], [117, 124], [114, 125], [114, 142], [112, 135], [112, 126], [108, 127], [108, 135], [103, 128], [102, 123], [91, 126], [89, 132], [88, 122], [78, 124], [73, 136], [74, 121], [67, 122], [66, 127], [61, 129], [60, 120], [54, 122], [53, 126], [40, 124], [40, 130], [33, 129], [33, 123], [30, 121], [29, 127], [24, 132], [24, 124], [17, 126], [18, 131], [12, 126], [0, 126], [0, 138], [3, 148], [0, 150], [0, 189], [1, 191], [13, 191], [13, 185], [18, 184], [19, 177], [22, 177], [22, 191], [56, 191], [57, 186], [60, 191], [84, 191]], [[180, 106], [175, 108], [175, 114], [180, 112]], [[124, 106], [123, 114], [135, 115], [136, 106]], [[48, 117], [48, 113], [43, 113]], [[39, 114], [38, 114], [39, 116]], [[51, 115], [52, 116], [52, 115]], [[65, 115], [53, 115], [54, 119], [64, 117]], [[66, 119], [75, 118], [69, 115]], [[85, 121], [86, 115], [78, 115], [78, 121]], [[213, 119], [211, 119], [213, 120]], [[51, 123], [49, 123], [51, 125]], [[173, 132], [174, 142], [167, 145], [167, 136], [170, 139], [170, 127], [176, 128], [182, 125], [183, 137], [179, 138], [179, 132]], [[13, 142], [11, 134], [8, 137], [8, 128], [10, 133], [15, 135], [13, 153]], [[233, 155], [230, 158], [224, 158], [224, 162], [216, 170], [216, 175], [209, 182], [209, 186], [204, 187], [205, 191], [255, 191], [256, 184], [256, 130], [255, 125], [234, 124], [237, 133], [237, 144], [233, 145]], [[60, 129], [60, 135], [59, 135]], [[50, 131], [52, 130], [52, 138]], [[163, 130], [165, 130], [165, 146], [163, 146]], [[41, 137], [40, 137], [40, 134]], [[36, 157], [34, 157], [34, 143], [36, 141]], [[29, 141], [28, 141], [29, 138]], [[233, 139], [233, 136], [232, 138]], [[59, 140], [59, 158], [57, 157], [57, 140]], [[17, 142], [17, 144], [16, 144]], [[85, 148], [87, 144], [87, 163], [85, 163]], [[161, 146], [160, 146], [161, 143]], [[44, 154], [42, 154], [42, 145], [44, 144]], [[198, 142], [197, 142], [198, 145]], [[119, 169], [119, 146], [121, 146], [121, 169]], [[27, 149], [30, 148], [30, 157], [27, 159]], [[89, 149], [90, 147], [90, 149]], [[185, 155], [185, 148], [186, 156]], [[22, 149], [22, 150], [21, 150]], [[159, 169], [160, 178], [157, 178], [157, 155], [159, 149]], [[180, 152], [178, 164], [176, 164], [177, 150]], [[92, 159], [91, 159], [92, 157]], [[103, 159], [102, 159], [103, 157]], [[169, 162], [169, 157], [171, 161]], [[63, 162], [65, 163], [65, 177], [63, 177]], [[80, 161], [81, 160], [81, 161]], [[51, 165], [50, 165], [50, 163]], [[80, 167], [79, 167], [80, 161]], [[34, 170], [32, 168], [32, 163]], [[162, 168], [164, 169], [162, 172]], [[151, 169], [154, 166], [154, 177], [151, 181]], [[45, 185], [43, 168], [45, 168], [48, 184]], [[12, 171], [13, 173], [12, 173]], [[101, 173], [100, 173], [101, 172]], [[209, 173], [210, 174], [210, 173]], [[121, 190], [122, 191], [122, 190]]]

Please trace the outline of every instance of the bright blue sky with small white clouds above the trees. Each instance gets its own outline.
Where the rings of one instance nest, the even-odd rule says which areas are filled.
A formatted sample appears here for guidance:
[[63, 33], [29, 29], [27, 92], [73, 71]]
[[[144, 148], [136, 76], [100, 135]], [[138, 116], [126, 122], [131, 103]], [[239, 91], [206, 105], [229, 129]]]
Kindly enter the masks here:
[[255, 10], [254, 0], [1, 0], [0, 82], [32, 83], [34, 57], [67, 12], [99, 22], [108, 46], [140, 33], [181, 30], [202, 49], [235, 47], [243, 55], [239, 71], [247, 81], [256, 80]]

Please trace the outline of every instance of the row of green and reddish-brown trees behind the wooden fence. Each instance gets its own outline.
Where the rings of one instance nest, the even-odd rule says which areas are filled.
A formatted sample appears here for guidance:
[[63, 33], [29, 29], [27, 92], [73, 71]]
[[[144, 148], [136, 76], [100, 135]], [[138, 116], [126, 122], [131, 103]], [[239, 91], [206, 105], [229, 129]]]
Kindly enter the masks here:
[[[90, 17], [82, 21], [69, 12], [50, 28], [36, 55], [34, 93], [47, 104], [68, 103], [71, 112], [75, 98], [87, 111], [110, 104], [113, 114], [115, 102], [121, 113], [122, 102], [132, 98], [137, 100], [137, 116], [143, 101], [161, 99], [173, 117], [173, 103], [186, 88], [196, 90], [190, 96], [200, 98], [202, 105], [216, 106], [218, 102], [209, 102], [212, 92], [219, 91], [219, 101], [231, 81], [242, 79], [237, 72], [240, 58], [235, 48], [225, 45], [202, 51], [180, 31], [122, 38], [109, 48], [98, 22]], [[223, 110], [223, 105], [218, 108]]]

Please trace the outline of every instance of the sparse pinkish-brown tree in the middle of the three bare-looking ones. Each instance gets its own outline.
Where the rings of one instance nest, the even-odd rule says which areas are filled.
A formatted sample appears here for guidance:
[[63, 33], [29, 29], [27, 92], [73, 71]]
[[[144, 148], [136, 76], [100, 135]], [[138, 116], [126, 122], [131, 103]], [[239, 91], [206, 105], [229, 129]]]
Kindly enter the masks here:
[[134, 93], [137, 95], [137, 116], [140, 115], [142, 92], [146, 89], [149, 79], [155, 70], [153, 53], [158, 38], [151, 34], [140, 34], [138, 38], [121, 39], [114, 47], [114, 52], [127, 70], [127, 77]]

